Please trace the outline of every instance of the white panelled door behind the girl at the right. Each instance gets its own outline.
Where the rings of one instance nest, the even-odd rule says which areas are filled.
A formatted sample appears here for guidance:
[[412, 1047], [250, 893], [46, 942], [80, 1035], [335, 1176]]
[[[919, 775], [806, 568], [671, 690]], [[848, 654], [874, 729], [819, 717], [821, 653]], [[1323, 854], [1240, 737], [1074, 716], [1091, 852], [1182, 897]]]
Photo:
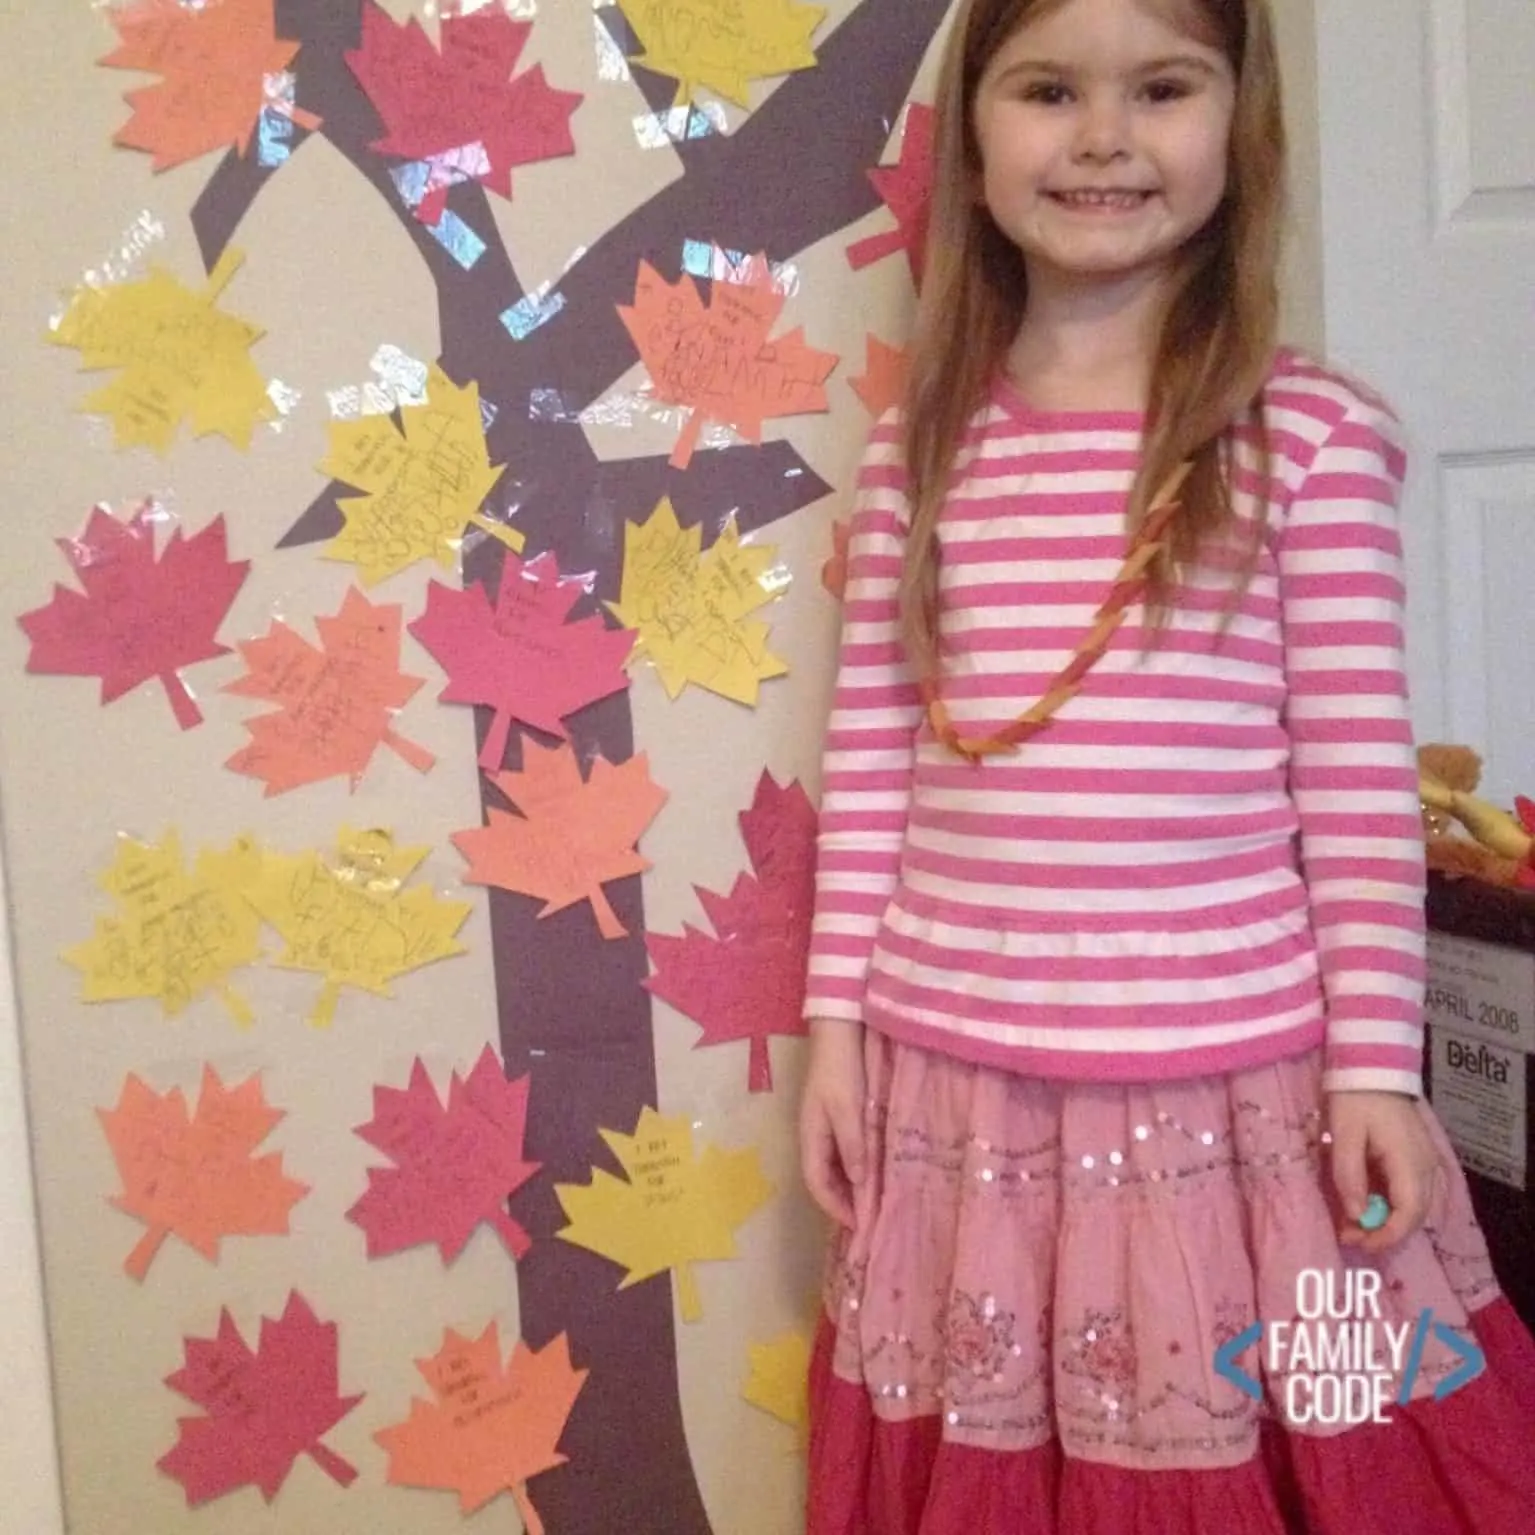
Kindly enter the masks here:
[[1535, 797], [1535, 0], [1315, 8], [1328, 350], [1409, 431], [1418, 740]]

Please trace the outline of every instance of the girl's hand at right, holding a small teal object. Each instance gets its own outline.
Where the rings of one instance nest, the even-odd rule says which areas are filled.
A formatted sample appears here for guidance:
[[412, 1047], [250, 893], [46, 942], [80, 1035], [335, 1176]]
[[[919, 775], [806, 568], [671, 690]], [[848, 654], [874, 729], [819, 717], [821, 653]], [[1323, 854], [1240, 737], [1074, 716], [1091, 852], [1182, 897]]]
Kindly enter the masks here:
[[[1332, 1187], [1342, 1205], [1339, 1243], [1385, 1253], [1423, 1225], [1438, 1173], [1438, 1150], [1412, 1098], [1400, 1093], [1332, 1093]], [[1358, 1217], [1371, 1194], [1391, 1203], [1391, 1219], [1365, 1231]]]

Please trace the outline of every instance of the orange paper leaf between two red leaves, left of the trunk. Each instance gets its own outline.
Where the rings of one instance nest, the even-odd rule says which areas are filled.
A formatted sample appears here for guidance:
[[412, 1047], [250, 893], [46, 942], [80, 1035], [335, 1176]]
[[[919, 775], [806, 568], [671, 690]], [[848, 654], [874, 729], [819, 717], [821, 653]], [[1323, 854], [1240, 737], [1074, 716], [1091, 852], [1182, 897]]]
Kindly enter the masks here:
[[388, 746], [418, 772], [436, 758], [394, 729], [394, 714], [421, 688], [399, 669], [401, 609], [375, 606], [352, 589], [341, 611], [316, 619], [316, 649], [281, 620], [239, 646], [249, 671], [224, 691], [279, 706], [246, 721], [250, 743], [227, 764], [261, 778], [267, 795], [325, 778], [348, 778], [356, 789], [379, 746]]

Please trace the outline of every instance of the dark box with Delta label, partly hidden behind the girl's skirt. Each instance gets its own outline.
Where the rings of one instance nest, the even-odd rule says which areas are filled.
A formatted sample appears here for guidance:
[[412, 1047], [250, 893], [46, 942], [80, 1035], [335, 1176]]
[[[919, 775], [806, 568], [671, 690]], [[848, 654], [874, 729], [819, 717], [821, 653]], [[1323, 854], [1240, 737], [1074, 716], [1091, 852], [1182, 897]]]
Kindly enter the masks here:
[[1535, 895], [1431, 873], [1428, 919], [1429, 1101], [1535, 1329]]

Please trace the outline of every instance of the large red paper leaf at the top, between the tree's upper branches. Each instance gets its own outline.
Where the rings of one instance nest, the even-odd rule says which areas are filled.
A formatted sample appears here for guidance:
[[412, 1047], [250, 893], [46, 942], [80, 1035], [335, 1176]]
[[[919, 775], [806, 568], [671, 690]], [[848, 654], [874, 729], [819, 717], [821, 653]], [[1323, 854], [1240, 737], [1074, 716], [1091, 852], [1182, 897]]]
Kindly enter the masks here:
[[583, 97], [556, 91], [536, 64], [516, 80], [530, 21], [490, 8], [442, 21], [442, 52], [416, 20], [394, 23], [378, 5], [362, 9], [362, 46], [347, 54], [388, 132], [373, 141], [382, 155], [428, 160], [482, 144], [485, 186], [511, 196], [513, 166], [573, 155], [571, 114]]

